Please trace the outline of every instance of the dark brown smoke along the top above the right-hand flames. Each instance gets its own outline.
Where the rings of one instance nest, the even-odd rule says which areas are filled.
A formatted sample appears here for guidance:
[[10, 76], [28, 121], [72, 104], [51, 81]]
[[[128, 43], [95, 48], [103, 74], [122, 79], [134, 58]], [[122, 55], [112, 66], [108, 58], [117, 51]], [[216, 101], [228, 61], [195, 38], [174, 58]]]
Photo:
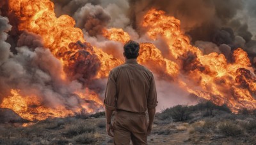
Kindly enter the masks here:
[[211, 41], [212, 34], [227, 24], [228, 20], [236, 15], [237, 10], [243, 8], [243, 3], [239, 0], [163, 0], [161, 3], [154, 0], [131, 0], [131, 17], [135, 24], [139, 24], [143, 16], [140, 13], [143, 14], [151, 8], [166, 11], [168, 15], [178, 18], [182, 29], [188, 32], [194, 41]]

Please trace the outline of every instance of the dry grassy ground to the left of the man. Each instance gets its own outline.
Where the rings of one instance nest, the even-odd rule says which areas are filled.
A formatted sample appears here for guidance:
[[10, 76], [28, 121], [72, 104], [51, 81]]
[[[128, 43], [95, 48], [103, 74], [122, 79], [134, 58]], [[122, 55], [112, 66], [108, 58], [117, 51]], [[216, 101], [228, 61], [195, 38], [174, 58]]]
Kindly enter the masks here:
[[[100, 119], [100, 118], [99, 118]], [[104, 119], [104, 118], [102, 118]], [[28, 127], [3, 125], [0, 144], [86, 144], [102, 139], [97, 127], [105, 130], [101, 120], [81, 118], [55, 118], [40, 121]], [[89, 141], [82, 137], [95, 137]], [[82, 143], [84, 142], [84, 143]]]

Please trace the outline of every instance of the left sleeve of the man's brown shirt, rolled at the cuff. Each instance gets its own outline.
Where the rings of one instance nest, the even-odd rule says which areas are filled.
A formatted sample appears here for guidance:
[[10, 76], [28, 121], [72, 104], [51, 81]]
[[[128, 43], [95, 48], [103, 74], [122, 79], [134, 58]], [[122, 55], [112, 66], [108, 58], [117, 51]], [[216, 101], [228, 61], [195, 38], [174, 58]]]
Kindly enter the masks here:
[[110, 111], [114, 111], [116, 109], [116, 81], [113, 71], [109, 72], [104, 105], [106, 109]]

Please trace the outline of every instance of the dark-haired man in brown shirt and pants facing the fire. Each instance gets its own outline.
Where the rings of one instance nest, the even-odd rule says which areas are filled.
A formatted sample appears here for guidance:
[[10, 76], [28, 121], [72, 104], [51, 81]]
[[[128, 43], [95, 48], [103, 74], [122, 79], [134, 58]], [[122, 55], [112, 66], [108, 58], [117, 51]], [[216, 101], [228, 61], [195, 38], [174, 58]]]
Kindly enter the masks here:
[[[147, 144], [157, 106], [154, 76], [136, 61], [140, 45], [129, 41], [124, 45], [125, 64], [109, 72], [104, 104], [106, 129], [114, 144]], [[145, 112], [148, 110], [149, 121]], [[115, 119], [113, 126], [111, 116]]]

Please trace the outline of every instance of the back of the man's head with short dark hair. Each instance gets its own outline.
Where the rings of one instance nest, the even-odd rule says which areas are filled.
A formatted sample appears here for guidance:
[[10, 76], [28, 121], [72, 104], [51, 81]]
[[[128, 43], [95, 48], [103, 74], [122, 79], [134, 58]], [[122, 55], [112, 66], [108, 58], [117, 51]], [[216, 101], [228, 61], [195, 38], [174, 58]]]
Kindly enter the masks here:
[[124, 45], [124, 55], [127, 59], [136, 59], [139, 56], [140, 44], [135, 41], [128, 41]]

